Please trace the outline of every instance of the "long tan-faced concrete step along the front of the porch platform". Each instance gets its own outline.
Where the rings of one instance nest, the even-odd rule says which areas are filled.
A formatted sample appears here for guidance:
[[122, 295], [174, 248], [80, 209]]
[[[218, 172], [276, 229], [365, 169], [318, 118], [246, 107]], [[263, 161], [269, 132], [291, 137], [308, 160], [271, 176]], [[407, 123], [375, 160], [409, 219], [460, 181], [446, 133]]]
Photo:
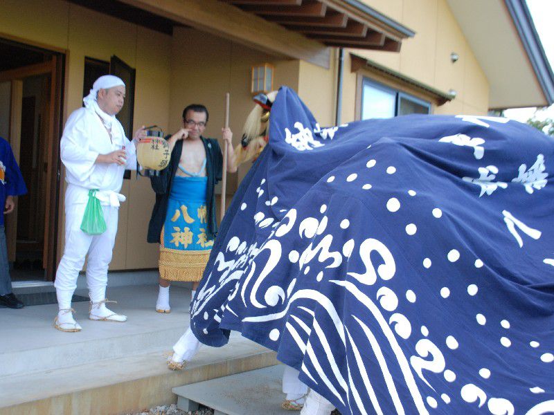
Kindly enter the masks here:
[[183, 371], [162, 350], [0, 378], [0, 415], [127, 414], [175, 403], [171, 388], [276, 365], [275, 353], [240, 335], [202, 347]]

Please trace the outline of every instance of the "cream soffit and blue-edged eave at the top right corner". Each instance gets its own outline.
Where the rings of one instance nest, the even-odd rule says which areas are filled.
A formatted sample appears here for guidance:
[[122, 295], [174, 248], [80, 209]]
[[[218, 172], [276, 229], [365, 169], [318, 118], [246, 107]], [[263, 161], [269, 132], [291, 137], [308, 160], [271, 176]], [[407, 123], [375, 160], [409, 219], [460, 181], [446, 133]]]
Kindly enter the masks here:
[[525, 0], [447, 0], [490, 85], [490, 109], [554, 102], [554, 75]]

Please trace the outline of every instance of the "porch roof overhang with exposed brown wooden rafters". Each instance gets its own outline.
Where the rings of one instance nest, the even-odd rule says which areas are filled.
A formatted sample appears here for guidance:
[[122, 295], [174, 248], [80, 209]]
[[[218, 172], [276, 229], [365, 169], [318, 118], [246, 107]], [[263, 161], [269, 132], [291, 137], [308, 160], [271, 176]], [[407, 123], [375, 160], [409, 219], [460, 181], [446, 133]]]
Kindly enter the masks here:
[[221, 0], [326, 46], [400, 51], [413, 30], [358, 0]]

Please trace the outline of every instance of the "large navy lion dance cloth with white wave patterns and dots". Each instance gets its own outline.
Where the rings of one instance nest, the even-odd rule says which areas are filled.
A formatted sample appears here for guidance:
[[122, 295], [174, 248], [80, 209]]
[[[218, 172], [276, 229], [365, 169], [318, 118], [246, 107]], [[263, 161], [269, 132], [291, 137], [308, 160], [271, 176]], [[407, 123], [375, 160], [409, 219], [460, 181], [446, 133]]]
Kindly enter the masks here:
[[191, 306], [341, 414], [554, 412], [554, 141], [519, 122], [323, 129], [290, 89]]

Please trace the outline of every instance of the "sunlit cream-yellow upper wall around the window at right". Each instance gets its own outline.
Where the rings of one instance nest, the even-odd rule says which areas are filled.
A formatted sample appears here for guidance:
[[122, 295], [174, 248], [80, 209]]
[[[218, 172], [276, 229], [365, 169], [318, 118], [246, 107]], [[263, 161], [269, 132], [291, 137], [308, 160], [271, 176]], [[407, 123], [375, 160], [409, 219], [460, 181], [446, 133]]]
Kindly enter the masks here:
[[[488, 111], [488, 80], [458, 26], [445, 0], [362, 0], [384, 15], [415, 31], [415, 37], [404, 39], [400, 53], [373, 50], [349, 50], [447, 93], [457, 91], [456, 99], [434, 113], [474, 113]], [[460, 56], [450, 61], [450, 53]], [[343, 121], [355, 118], [356, 74], [345, 66]]]

